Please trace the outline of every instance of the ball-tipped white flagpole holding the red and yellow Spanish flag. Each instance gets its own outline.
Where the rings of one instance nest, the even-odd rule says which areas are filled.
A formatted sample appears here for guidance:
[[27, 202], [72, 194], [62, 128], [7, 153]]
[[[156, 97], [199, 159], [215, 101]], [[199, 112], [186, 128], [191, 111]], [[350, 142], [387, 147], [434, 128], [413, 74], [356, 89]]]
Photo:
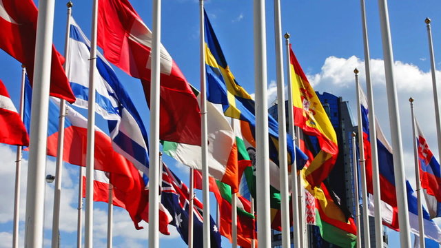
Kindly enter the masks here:
[[[294, 133], [294, 110], [293, 110], [293, 100], [292, 100], [292, 85], [291, 85], [291, 59], [289, 55], [289, 37], [288, 33], [285, 33], [285, 45], [287, 52], [287, 85], [288, 85], [288, 123], [289, 123], [289, 134], [297, 140], [296, 134]], [[300, 216], [298, 209], [298, 182], [297, 182], [297, 162], [294, 159], [294, 163], [291, 165], [291, 192], [292, 192], [292, 220], [294, 229], [294, 247], [301, 247], [300, 239]]]

